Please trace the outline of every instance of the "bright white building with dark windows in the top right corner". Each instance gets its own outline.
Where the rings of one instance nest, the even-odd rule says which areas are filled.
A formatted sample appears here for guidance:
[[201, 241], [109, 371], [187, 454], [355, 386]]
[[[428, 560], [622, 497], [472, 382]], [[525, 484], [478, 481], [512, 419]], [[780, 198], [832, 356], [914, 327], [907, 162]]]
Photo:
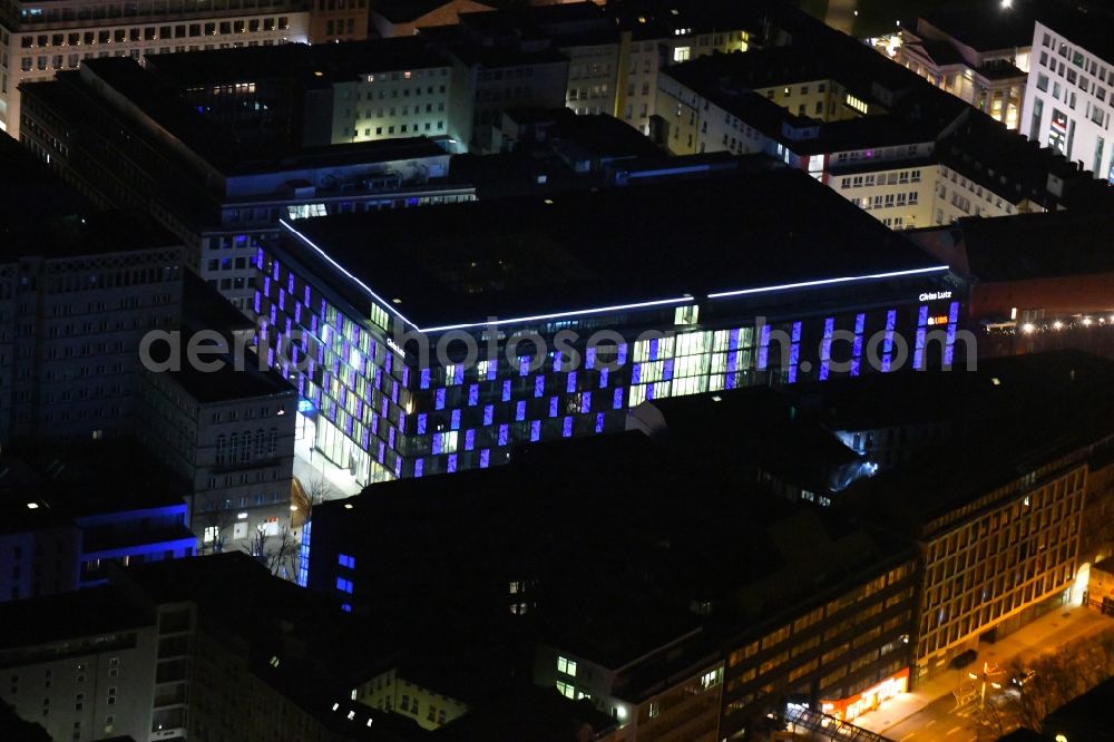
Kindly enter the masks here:
[[1110, 134], [1114, 55], [1100, 33], [1086, 18], [1036, 22], [1019, 128], [1094, 177], [1110, 180], [1114, 178]]

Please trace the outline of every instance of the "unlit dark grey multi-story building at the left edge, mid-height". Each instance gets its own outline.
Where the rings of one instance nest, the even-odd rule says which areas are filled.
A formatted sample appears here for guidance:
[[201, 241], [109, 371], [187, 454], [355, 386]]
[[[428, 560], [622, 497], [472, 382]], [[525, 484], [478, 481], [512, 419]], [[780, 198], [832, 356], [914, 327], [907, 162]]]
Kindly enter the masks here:
[[6, 438], [130, 432], [140, 340], [180, 319], [180, 242], [135, 213], [60, 217], [6, 241]]

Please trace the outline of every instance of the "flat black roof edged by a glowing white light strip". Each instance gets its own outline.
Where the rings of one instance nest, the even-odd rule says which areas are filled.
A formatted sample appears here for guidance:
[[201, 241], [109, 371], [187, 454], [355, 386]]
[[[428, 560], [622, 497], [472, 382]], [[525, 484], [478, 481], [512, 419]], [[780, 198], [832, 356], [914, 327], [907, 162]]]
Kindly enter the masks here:
[[[799, 172], [300, 219], [419, 328], [939, 265]], [[286, 250], [333, 272], [292, 234]], [[397, 302], [393, 300], [398, 300]]]

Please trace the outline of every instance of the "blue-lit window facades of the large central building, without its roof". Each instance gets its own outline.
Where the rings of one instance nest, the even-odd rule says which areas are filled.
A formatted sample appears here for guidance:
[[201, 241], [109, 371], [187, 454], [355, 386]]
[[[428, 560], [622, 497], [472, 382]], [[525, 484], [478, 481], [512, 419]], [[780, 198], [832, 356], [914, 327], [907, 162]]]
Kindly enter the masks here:
[[[648, 399], [859, 375], [872, 358], [872, 370], [887, 371], [901, 360], [897, 334], [908, 340], [905, 362], [921, 368], [928, 349], [919, 331], [930, 322], [947, 325], [948, 344], [937, 355], [950, 360], [959, 319], [958, 302], [917, 300], [921, 279], [916, 290], [889, 291], [869, 307], [844, 290], [836, 311], [779, 311], [769, 323], [756, 322], [761, 313], [752, 305], [726, 300], [702, 305], [701, 324], [674, 324], [676, 307], [654, 306], [502, 326], [498, 359], [470, 368], [431, 360], [419, 368], [417, 359], [388, 343], [392, 323], [401, 323], [388, 307], [372, 301], [372, 316], [360, 318], [351, 305], [307, 284], [299, 274], [303, 269], [292, 272], [266, 252], [258, 261], [256, 299], [268, 319], [271, 348], [282, 348], [300, 331], [293, 353], [278, 353], [273, 362], [301, 390], [303, 408], [315, 419], [319, 450], [364, 482], [498, 465], [522, 442], [619, 431], [627, 409]], [[553, 349], [561, 330], [574, 330], [584, 341], [598, 329], [616, 331], [626, 342], [596, 349], [571, 343], [580, 357], [576, 368], [556, 352], [539, 361], [504, 352], [505, 338], [518, 332], [536, 332]], [[668, 334], [641, 338], [647, 329]], [[481, 352], [488, 348], [485, 330], [469, 330]], [[431, 334], [431, 346], [436, 340]], [[291, 363], [292, 354], [306, 359], [304, 368]]]

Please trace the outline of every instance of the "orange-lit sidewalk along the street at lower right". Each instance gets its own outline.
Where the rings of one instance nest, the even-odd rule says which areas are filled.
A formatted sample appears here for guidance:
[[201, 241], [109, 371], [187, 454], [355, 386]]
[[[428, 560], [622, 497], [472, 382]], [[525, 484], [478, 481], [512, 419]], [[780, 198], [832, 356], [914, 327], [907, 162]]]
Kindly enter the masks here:
[[[1103, 626], [1114, 626], [1114, 621], [1083, 606], [1057, 608], [1040, 616], [994, 644], [983, 642], [978, 647], [978, 658], [962, 670], [946, 670], [936, 677], [921, 682], [909, 693], [903, 693], [883, 703], [877, 711], [863, 714], [854, 724], [882, 734], [910, 716], [924, 711], [930, 703], [951, 695], [967, 672], [981, 668], [984, 662], [1005, 671], [1015, 657], [1035, 656], [1057, 646], [1098, 631]], [[1003, 675], [1003, 684], [1009, 678]]]

